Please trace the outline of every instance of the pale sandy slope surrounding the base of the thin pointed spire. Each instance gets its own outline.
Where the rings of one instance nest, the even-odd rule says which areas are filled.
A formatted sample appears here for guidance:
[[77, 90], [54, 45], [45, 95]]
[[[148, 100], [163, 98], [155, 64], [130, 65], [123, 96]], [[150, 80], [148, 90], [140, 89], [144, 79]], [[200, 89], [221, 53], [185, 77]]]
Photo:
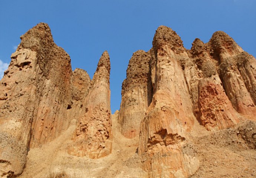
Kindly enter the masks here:
[[138, 138], [127, 139], [121, 135], [116, 115], [112, 115], [112, 125], [114, 141], [110, 155], [101, 159], [69, 155], [66, 148], [72, 143], [75, 129], [75, 121], [72, 121], [61, 136], [41, 148], [29, 151], [26, 168], [20, 178], [43, 178], [58, 172], [75, 178], [145, 177], [136, 153]]

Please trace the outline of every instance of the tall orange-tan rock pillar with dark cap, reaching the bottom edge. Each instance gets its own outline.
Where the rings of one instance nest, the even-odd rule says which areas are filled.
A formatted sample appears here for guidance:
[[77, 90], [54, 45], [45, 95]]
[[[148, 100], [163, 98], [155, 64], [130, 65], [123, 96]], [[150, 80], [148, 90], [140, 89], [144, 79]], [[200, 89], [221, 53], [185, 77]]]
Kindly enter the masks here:
[[141, 122], [139, 155], [152, 178], [188, 177], [199, 166], [197, 158], [182, 152], [186, 132], [195, 121], [179, 63], [188, 59], [188, 55], [180, 37], [165, 26], [158, 27], [153, 48], [156, 56], [152, 66], [155, 73], [151, 74], [154, 94]]

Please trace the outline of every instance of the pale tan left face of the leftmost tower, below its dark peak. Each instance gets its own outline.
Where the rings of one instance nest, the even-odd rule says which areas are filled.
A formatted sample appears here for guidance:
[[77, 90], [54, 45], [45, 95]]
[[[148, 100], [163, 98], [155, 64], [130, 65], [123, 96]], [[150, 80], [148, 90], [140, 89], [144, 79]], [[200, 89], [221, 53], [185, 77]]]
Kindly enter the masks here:
[[36, 52], [17, 49], [0, 85], [0, 176], [20, 174], [35, 110]]

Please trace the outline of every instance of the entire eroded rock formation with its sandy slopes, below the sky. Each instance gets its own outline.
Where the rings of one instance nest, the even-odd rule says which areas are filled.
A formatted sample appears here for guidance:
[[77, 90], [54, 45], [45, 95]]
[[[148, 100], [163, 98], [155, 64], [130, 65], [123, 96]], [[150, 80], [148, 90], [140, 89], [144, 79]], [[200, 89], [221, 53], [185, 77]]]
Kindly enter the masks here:
[[0, 177], [20, 175], [27, 160], [24, 178], [52, 165], [70, 178], [255, 177], [256, 60], [226, 33], [187, 50], [158, 27], [152, 48], [129, 61], [113, 130], [108, 52], [91, 80], [72, 71], [47, 24], [21, 40], [0, 81]]

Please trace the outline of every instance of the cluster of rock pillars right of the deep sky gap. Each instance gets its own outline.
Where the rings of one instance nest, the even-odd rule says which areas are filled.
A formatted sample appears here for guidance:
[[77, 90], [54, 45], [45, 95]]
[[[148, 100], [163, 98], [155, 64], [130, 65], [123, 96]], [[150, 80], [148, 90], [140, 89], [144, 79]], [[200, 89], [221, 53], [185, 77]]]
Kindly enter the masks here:
[[[152, 44], [129, 62], [119, 113], [122, 134], [133, 137], [129, 132], [136, 127], [129, 123], [141, 121], [138, 151], [149, 177], [189, 177], [200, 166], [196, 156], [184, 151], [195, 123], [214, 131], [244, 116], [255, 118], [256, 60], [224, 32], [205, 44], [196, 39], [187, 50], [172, 29], [160, 26]], [[144, 73], [137, 76], [141, 69]], [[137, 82], [136, 76], [144, 80]], [[136, 86], [150, 89], [144, 92], [147, 100], [132, 94]]]

